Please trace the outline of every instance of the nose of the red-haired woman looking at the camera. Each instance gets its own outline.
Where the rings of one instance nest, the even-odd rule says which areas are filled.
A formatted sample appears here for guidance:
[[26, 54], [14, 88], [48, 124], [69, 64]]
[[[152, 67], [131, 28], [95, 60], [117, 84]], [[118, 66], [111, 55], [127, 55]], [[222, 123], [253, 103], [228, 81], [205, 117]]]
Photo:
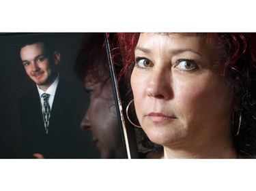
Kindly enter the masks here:
[[152, 71], [147, 80], [147, 96], [157, 99], [170, 99], [172, 96], [171, 81], [171, 70]]

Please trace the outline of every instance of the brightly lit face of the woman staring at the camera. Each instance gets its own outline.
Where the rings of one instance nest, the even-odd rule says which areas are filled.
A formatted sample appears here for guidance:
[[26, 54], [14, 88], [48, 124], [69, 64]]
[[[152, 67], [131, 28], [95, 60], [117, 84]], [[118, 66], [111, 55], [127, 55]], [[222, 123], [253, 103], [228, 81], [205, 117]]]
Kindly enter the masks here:
[[141, 33], [131, 85], [151, 141], [197, 147], [229, 136], [232, 92], [213, 67], [216, 53], [196, 34]]

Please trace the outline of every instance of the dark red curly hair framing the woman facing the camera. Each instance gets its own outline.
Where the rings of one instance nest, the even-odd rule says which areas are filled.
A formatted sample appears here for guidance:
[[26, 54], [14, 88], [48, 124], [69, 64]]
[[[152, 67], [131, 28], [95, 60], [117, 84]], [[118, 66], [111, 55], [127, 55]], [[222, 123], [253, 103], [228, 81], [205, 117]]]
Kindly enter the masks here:
[[[130, 84], [130, 75], [134, 66], [134, 49], [140, 33], [117, 33], [119, 54], [122, 55], [122, 71], [119, 77], [126, 77]], [[242, 122], [240, 133], [233, 136], [240, 154], [256, 155], [256, 33], [197, 33], [204, 37], [220, 52], [216, 62], [233, 89], [233, 124]], [[120, 64], [120, 63], [119, 63]], [[131, 96], [131, 95], [130, 95]]]

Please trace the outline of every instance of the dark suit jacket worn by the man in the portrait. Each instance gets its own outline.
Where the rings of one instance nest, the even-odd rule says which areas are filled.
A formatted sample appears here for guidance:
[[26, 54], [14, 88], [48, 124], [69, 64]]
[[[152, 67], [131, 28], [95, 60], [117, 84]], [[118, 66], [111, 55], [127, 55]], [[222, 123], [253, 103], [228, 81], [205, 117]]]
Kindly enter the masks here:
[[45, 158], [100, 158], [89, 131], [80, 128], [88, 104], [83, 90], [60, 78], [46, 135], [38, 89], [21, 97], [24, 157], [33, 158], [33, 153], [40, 153]]

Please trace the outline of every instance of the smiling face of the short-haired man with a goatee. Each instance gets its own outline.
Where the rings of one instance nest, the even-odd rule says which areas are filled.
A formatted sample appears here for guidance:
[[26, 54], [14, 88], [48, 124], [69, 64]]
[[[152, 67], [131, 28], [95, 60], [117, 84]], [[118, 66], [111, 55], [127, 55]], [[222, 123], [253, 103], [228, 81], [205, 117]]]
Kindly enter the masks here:
[[47, 90], [57, 77], [56, 65], [60, 61], [59, 52], [53, 56], [46, 54], [44, 44], [38, 42], [20, 49], [20, 58], [27, 75], [38, 84], [42, 90]]

